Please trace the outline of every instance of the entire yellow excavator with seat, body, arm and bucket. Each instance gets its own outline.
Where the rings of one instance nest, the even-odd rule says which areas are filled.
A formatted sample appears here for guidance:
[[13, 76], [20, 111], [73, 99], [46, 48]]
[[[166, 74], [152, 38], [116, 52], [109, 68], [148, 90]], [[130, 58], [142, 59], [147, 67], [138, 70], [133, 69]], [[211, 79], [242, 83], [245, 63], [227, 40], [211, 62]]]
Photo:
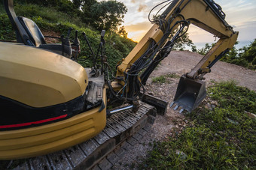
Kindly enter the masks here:
[[[111, 80], [107, 57], [102, 50], [104, 31], [93, 68], [84, 68], [72, 60], [76, 55], [72, 50], [74, 44], [69, 40], [70, 31], [66, 38], [60, 38], [62, 43], [47, 44], [35, 22], [16, 16], [13, 0], [4, 0], [4, 4], [17, 42], [0, 42], [0, 160], [36, 157], [74, 145], [84, 148], [86, 154], [87, 149], [92, 148], [90, 142], [97, 142], [101, 148], [115, 139], [114, 145], [117, 145], [125, 139], [123, 136], [128, 136], [123, 129], [134, 134], [145, 121], [153, 123], [153, 106], [161, 102], [145, 94], [144, 85], [190, 24], [219, 38], [178, 83], [172, 105], [180, 108], [180, 112], [193, 111], [206, 97], [203, 76], [210, 73], [211, 67], [234, 46], [238, 37], [238, 32], [227, 24], [225, 13], [213, 0], [163, 1], [163, 12], [158, 11], [152, 18], [149, 15], [153, 26], [117, 64], [116, 75]], [[99, 60], [100, 64], [96, 64]], [[145, 103], [138, 104], [141, 100]], [[117, 102], [132, 105], [110, 112], [106, 109], [107, 103]], [[166, 103], [162, 104], [162, 109], [166, 109]], [[108, 143], [107, 148], [111, 148], [109, 145], [112, 143]], [[101, 153], [103, 150], [101, 148]], [[102, 156], [107, 153], [109, 151]], [[84, 157], [99, 159], [90, 154]], [[87, 161], [90, 164], [87, 167], [92, 166], [91, 162], [92, 159]]]

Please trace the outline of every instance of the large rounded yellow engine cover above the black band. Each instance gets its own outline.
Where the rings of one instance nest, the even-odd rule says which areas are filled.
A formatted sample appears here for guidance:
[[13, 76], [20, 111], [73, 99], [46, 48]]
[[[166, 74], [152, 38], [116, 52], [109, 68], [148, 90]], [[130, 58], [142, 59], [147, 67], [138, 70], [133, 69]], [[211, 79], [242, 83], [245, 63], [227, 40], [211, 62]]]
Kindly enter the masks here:
[[0, 95], [32, 107], [45, 107], [84, 94], [87, 73], [75, 61], [11, 43], [0, 42], [0, 51]]

